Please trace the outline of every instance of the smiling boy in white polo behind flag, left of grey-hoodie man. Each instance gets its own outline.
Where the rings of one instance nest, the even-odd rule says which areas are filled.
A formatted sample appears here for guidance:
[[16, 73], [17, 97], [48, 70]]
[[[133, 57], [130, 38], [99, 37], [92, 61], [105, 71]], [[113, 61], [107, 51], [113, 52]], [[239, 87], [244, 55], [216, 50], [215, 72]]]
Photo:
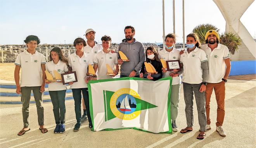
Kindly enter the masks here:
[[[103, 36], [101, 37], [101, 41], [103, 50], [97, 53], [93, 60], [93, 69], [94, 71], [98, 71], [98, 80], [113, 78], [119, 72], [118, 55], [116, 53], [111, 53], [111, 50], [109, 49], [111, 45], [111, 37]], [[113, 69], [115, 75], [107, 75], [106, 64]], [[116, 66], [116, 70], [114, 70], [114, 66]]]

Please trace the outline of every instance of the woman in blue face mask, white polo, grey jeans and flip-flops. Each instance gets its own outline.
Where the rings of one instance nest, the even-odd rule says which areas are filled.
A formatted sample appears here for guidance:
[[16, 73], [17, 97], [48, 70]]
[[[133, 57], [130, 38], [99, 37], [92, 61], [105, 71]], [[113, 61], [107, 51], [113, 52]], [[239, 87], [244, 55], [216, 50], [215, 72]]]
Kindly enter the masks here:
[[208, 59], [206, 53], [199, 49], [200, 45], [196, 34], [187, 35], [187, 50], [180, 56], [180, 62], [184, 70], [182, 82], [187, 119], [187, 127], [182, 129], [180, 133], [187, 133], [193, 130], [193, 94], [195, 94], [200, 125], [200, 133], [197, 139], [204, 139], [206, 136], [205, 90], [208, 78]]

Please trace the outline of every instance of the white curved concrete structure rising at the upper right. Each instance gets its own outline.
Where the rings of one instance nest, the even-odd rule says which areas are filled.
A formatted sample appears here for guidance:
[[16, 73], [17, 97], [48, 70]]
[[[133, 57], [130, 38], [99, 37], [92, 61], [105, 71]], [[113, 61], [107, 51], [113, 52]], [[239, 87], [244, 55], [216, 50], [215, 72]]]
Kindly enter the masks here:
[[[254, 0], [213, 0], [226, 20], [226, 32], [234, 32], [242, 40], [239, 51], [231, 55], [232, 61], [256, 60], [256, 42], [240, 21]], [[253, 19], [253, 18], [252, 18]]]

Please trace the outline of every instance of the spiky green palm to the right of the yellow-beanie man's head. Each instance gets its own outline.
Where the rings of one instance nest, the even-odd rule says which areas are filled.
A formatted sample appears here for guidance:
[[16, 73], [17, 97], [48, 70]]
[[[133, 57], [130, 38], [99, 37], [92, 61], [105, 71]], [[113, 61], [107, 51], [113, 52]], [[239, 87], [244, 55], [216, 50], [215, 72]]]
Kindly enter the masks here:
[[238, 51], [239, 46], [241, 46], [241, 39], [233, 32], [224, 32], [220, 36], [220, 44], [227, 46], [229, 52], [235, 54], [235, 51]]

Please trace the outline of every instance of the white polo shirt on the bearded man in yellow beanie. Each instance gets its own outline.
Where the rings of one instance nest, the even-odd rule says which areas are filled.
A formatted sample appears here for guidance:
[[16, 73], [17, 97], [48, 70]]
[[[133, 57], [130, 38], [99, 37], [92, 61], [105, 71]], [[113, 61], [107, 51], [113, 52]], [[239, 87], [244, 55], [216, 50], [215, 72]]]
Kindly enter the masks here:
[[201, 46], [201, 49], [208, 56], [208, 83], [221, 82], [226, 72], [226, 63], [224, 59], [230, 58], [227, 46], [218, 44], [218, 46], [214, 48], [213, 51], [211, 51], [211, 48], [208, 47], [208, 44], [205, 44]]

